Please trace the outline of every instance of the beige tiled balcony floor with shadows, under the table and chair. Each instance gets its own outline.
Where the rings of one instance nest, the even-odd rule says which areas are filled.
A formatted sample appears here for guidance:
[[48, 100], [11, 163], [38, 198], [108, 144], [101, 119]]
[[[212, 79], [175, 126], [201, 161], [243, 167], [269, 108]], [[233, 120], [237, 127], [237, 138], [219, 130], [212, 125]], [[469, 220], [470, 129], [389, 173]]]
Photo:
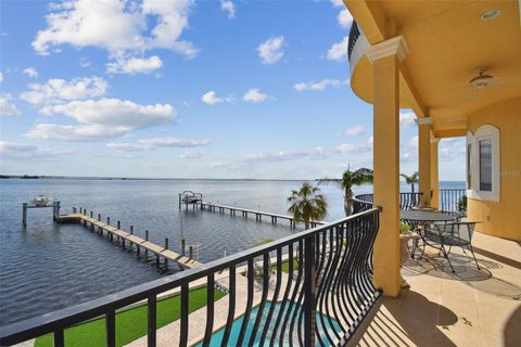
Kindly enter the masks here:
[[475, 233], [472, 244], [481, 270], [459, 249], [456, 274], [432, 248], [408, 260], [410, 288], [380, 299], [350, 346], [521, 346], [521, 243]]

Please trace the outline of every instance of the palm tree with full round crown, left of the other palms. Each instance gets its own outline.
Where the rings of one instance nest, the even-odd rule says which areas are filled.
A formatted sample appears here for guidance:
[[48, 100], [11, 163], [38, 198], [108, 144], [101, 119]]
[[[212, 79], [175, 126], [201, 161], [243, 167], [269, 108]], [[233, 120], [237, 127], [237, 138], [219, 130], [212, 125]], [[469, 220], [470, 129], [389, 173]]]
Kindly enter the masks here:
[[318, 185], [313, 187], [309, 182], [304, 182], [300, 190], [291, 191], [288, 203], [288, 211], [293, 214], [295, 221], [303, 221], [306, 229], [309, 229], [309, 221], [320, 220], [328, 214], [326, 196]]

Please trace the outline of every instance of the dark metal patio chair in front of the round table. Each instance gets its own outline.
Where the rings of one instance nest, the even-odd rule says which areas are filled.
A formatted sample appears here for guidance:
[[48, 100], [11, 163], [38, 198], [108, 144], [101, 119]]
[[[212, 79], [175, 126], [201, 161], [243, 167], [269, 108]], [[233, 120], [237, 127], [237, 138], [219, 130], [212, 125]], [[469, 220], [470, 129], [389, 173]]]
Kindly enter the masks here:
[[448, 260], [448, 265], [453, 272], [453, 265], [448, 258], [448, 254], [453, 246], [461, 247], [465, 254], [466, 248], [472, 254], [478, 270], [481, 270], [478, 260], [475, 259], [474, 250], [472, 249], [472, 234], [474, 233], [475, 221], [456, 221], [446, 223], [434, 223], [424, 230], [424, 237], [427, 244], [440, 249], [443, 256]]

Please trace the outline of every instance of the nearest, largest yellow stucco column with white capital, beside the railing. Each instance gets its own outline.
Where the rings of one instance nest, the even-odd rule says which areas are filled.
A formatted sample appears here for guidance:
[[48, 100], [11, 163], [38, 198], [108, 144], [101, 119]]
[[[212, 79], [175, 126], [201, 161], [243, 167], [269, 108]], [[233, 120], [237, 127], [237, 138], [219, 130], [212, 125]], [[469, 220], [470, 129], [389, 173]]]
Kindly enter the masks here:
[[373, 190], [381, 207], [374, 243], [374, 286], [399, 294], [399, 62], [407, 53], [399, 36], [366, 50], [373, 64]]

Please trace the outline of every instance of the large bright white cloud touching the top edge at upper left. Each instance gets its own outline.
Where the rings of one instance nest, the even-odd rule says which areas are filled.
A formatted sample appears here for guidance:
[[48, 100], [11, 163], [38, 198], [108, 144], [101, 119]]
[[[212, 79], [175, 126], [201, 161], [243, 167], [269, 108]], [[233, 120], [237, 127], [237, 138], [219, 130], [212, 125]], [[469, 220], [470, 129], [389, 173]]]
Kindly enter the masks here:
[[192, 5], [192, 0], [66, 1], [50, 7], [33, 48], [42, 55], [60, 44], [103, 48], [111, 55], [163, 48], [190, 59], [196, 49], [180, 37]]

